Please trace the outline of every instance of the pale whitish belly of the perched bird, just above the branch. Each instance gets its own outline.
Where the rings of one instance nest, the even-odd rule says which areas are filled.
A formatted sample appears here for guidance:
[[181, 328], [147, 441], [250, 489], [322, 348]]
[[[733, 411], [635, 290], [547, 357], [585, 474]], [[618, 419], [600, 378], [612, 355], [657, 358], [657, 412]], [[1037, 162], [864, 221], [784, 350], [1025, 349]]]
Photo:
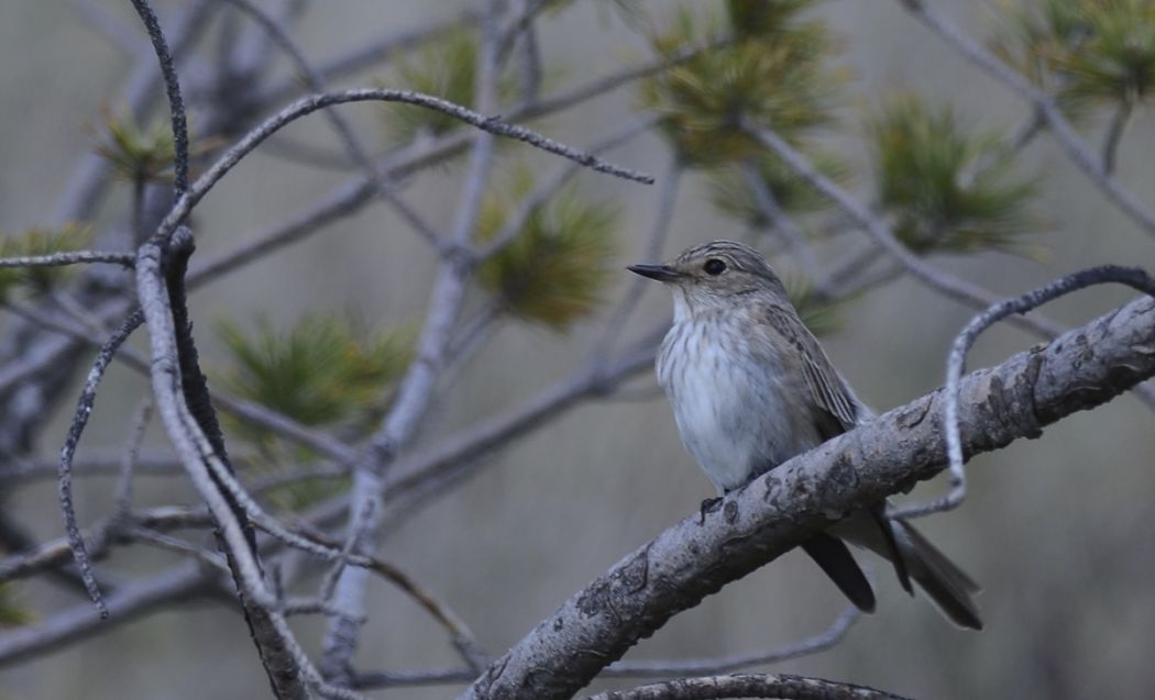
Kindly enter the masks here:
[[720, 492], [818, 444], [788, 400], [792, 378], [765, 359], [703, 352], [683, 360], [662, 383], [683, 444]]

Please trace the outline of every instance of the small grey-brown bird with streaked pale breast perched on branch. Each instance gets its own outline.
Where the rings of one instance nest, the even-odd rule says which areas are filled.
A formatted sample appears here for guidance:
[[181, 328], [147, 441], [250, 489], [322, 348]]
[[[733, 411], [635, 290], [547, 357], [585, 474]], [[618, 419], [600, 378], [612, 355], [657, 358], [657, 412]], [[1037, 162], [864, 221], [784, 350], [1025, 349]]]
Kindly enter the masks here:
[[[627, 269], [673, 294], [658, 384], [683, 444], [720, 497], [873, 417], [758, 250], [718, 240]], [[954, 624], [982, 629], [978, 585], [909, 522], [888, 517], [885, 500], [800, 545], [851, 603], [873, 612], [873, 588], [845, 542], [888, 559], [907, 593], [914, 580]]]

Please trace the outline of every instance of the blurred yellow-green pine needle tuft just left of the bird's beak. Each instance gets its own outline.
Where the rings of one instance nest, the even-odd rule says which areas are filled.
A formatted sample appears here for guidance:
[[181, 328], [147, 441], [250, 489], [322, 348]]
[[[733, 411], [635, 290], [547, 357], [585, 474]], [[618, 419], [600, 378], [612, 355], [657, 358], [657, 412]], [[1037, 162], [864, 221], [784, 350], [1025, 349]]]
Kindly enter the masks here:
[[[517, 202], [528, 196], [532, 175], [513, 178], [512, 197], [491, 196], [478, 223], [478, 239], [504, 227]], [[564, 331], [591, 314], [612, 279], [617, 250], [617, 208], [591, 202], [569, 186], [529, 216], [513, 241], [485, 261], [478, 283], [514, 316]]]

